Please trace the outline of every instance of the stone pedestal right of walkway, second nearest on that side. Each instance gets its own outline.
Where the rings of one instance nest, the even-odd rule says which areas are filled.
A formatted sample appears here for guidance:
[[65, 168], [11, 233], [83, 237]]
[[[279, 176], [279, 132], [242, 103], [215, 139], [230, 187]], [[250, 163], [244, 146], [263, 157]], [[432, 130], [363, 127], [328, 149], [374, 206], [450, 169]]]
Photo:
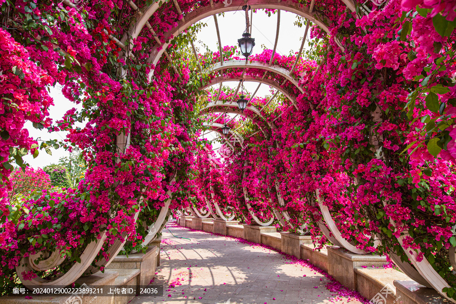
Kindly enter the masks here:
[[355, 254], [337, 246], [327, 246], [328, 274], [342, 285], [356, 289], [355, 267], [382, 267], [387, 263], [386, 256]]

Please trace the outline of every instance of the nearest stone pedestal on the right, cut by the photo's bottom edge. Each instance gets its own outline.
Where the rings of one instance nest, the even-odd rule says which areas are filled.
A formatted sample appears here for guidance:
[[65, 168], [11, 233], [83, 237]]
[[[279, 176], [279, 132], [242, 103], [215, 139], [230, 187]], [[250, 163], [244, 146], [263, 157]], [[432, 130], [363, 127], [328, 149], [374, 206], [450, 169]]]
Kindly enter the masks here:
[[437, 291], [427, 288], [415, 281], [394, 281], [396, 287], [396, 304], [443, 304], [451, 303]]

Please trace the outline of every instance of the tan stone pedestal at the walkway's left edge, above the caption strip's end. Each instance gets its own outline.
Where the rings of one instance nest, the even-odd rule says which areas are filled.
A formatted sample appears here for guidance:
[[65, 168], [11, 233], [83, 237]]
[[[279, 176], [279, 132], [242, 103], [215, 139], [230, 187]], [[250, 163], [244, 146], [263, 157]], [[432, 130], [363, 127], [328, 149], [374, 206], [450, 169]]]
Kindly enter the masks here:
[[136, 279], [136, 286], [149, 285], [150, 281], [155, 277], [157, 253], [157, 246], [149, 246], [145, 253], [134, 253], [128, 255], [128, 257], [126, 255], [118, 255], [108, 265], [107, 269], [138, 269], [139, 274]]

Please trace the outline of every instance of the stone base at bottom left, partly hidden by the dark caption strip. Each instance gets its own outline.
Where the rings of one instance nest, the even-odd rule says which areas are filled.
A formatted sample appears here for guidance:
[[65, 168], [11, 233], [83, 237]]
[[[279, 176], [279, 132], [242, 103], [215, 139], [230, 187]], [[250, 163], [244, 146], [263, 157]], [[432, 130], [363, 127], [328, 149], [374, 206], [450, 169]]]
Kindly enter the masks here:
[[[87, 284], [90, 287], [103, 287], [115, 285], [115, 280], [118, 278], [119, 273], [116, 271], [106, 270], [104, 273], [98, 272], [89, 277], [79, 278], [76, 283]], [[120, 286], [121, 287], [121, 286]], [[115, 303], [115, 297], [113, 295], [107, 295], [107, 290], [103, 291], [106, 295], [103, 296], [91, 296], [85, 295], [82, 297], [81, 304], [112, 304]], [[31, 291], [29, 291], [31, 293]], [[70, 299], [73, 295], [59, 295], [59, 296], [34, 296], [30, 295], [31, 299], [26, 299], [25, 296], [2, 296], [0, 297], [0, 303], [2, 304], [64, 304], [65, 302], [72, 303]], [[128, 302], [128, 301], [127, 301]], [[127, 303], [124, 302], [124, 303]], [[116, 303], [117, 304], [117, 303]]]

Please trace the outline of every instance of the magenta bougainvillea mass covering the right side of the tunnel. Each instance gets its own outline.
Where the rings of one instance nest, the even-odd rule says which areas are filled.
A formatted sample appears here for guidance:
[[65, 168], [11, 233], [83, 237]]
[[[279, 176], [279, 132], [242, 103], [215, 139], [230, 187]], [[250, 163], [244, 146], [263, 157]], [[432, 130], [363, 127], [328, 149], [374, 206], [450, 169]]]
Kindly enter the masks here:
[[[451, 286], [443, 292], [453, 297], [448, 250], [456, 246], [451, 233], [455, 7], [410, 3], [393, 1], [359, 18], [335, 5], [331, 37], [311, 31], [320, 40], [312, 56], [320, 60], [318, 68], [311, 61], [308, 70], [295, 70], [304, 89], [288, 90], [297, 110], [284, 104], [265, 117], [271, 123], [281, 115], [271, 129], [273, 140], [250, 138], [247, 148], [230, 158], [227, 171], [234, 175], [246, 158], [255, 160], [251, 170], [258, 175], [249, 184], [260, 189], [259, 198], [278, 181], [284, 199], [278, 208], [291, 215], [294, 226], [319, 220], [319, 189], [343, 237], [366, 251], [399, 256], [414, 251]], [[403, 13], [404, 8], [412, 10]], [[270, 54], [251, 60], [268, 62]], [[274, 62], [289, 67], [294, 60]], [[242, 72], [225, 71], [237, 77]], [[264, 71], [250, 68], [245, 74]], [[236, 179], [239, 173], [233, 183]], [[312, 231], [318, 237], [315, 224]], [[377, 236], [382, 244], [375, 249]]]

